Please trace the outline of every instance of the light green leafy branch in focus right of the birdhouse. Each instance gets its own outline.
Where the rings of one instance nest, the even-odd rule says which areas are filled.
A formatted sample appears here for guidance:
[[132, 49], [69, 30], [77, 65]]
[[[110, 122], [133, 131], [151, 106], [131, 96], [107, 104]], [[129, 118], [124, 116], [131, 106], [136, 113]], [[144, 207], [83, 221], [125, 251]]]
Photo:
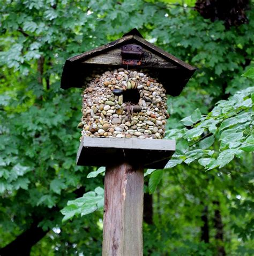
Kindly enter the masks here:
[[207, 170], [222, 168], [244, 151], [253, 151], [253, 93], [254, 87], [239, 91], [206, 116], [195, 110], [182, 119], [191, 129], [169, 130], [167, 138], [177, 139], [177, 150], [165, 168], [195, 160]]

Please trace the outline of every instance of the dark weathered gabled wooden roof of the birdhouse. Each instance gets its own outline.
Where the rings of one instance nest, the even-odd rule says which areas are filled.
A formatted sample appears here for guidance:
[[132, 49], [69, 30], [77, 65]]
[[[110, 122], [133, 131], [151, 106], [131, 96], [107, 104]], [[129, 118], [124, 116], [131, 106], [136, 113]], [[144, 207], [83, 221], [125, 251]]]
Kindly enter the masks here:
[[121, 51], [122, 46], [128, 44], [139, 45], [144, 52], [141, 65], [129, 65], [128, 69], [150, 69], [156, 73], [167, 94], [179, 95], [196, 70], [195, 67], [146, 41], [137, 29], [133, 29], [120, 39], [66, 60], [61, 88], [82, 87], [85, 77], [97, 67], [127, 68], [126, 64], [122, 63]]

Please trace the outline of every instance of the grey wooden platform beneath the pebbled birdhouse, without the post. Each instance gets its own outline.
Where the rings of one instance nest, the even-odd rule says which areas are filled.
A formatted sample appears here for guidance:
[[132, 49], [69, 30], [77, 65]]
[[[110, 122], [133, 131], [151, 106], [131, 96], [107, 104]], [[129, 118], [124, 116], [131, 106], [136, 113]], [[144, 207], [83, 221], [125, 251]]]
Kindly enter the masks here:
[[163, 169], [174, 152], [175, 140], [84, 137], [77, 153], [77, 165], [114, 166], [129, 162], [133, 166]]

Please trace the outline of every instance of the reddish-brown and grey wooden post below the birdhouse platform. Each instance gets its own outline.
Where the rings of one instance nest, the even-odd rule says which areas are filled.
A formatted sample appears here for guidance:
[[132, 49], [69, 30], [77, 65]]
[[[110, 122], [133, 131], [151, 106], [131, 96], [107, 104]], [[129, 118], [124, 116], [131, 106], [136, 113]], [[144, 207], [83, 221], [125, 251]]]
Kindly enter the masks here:
[[106, 168], [103, 256], [143, 255], [143, 169], [127, 162]]

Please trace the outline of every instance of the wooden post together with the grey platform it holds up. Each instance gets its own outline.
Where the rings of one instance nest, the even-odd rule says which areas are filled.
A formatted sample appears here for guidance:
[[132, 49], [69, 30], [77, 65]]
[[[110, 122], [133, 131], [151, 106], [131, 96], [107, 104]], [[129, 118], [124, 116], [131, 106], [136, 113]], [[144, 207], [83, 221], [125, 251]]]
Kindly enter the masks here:
[[174, 140], [82, 138], [77, 165], [106, 166], [103, 256], [143, 255], [143, 171], [163, 169], [174, 152]]

